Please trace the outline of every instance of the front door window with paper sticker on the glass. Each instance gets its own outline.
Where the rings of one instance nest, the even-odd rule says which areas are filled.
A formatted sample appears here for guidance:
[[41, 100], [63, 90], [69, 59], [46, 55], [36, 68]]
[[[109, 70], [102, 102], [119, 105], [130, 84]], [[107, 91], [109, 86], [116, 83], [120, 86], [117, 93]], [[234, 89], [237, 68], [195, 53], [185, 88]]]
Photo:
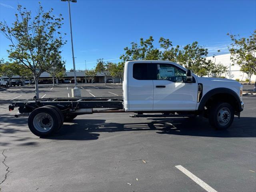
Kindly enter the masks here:
[[185, 82], [186, 72], [172, 64], [157, 64], [156, 79]]

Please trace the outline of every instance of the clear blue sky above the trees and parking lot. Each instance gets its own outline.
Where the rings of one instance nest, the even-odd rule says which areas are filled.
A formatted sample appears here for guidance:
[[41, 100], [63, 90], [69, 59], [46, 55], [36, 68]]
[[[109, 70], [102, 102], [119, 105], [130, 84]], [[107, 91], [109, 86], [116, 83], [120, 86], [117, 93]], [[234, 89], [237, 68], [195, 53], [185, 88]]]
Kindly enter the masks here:
[[[62, 48], [66, 68], [72, 68], [68, 3], [60, 0], [41, 0], [45, 10], [54, 8], [54, 14], [63, 14], [68, 43]], [[37, 0], [0, 0], [0, 20], [14, 21], [17, 4], [35, 12]], [[174, 45], [186, 45], [198, 41], [209, 49], [209, 56], [218, 49], [228, 53], [230, 38], [240, 34], [248, 37], [256, 29], [255, 0], [227, 1], [110, 1], [77, 0], [71, 3], [72, 30], [76, 69], [84, 70], [96, 64], [96, 59], [112, 60], [124, 53], [123, 48], [140, 38], [153, 36], [169, 38]], [[7, 59], [10, 43], [0, 35], [0, 58]]]

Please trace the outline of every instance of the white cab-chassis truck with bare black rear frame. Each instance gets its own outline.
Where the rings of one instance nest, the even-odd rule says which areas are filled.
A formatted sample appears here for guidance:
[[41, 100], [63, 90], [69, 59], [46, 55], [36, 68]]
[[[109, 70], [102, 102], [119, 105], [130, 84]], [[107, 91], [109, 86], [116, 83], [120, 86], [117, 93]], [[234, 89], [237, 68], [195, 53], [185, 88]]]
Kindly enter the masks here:
[[[131, 60], [124, 66], [123, 98], [48, 98], [12, 102], [16, 117], [29, 115], [37, 136], [49, 136], [80, 114], [134, 112], [131, 117], [203, 116], [228, 128], [244, 108], [242, 85], [230, 79], [198, 77], [170, 61]], [[94, 110], [94, 108], [104, 108]]]

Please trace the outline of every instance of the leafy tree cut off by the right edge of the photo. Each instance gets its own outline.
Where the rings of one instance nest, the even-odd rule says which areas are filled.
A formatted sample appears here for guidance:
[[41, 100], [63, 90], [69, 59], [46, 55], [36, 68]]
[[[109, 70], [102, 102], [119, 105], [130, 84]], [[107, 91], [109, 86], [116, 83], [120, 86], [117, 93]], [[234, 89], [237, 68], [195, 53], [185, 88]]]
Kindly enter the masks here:
[[[256, 30], [248, 38], [229, 33], [228, 36], [233, 41], [228, 48], [231, 53], [231, 60], [242, 69], [250, 68], [256, 74]], [[254, 92], [256, 92], [256, 80]]]

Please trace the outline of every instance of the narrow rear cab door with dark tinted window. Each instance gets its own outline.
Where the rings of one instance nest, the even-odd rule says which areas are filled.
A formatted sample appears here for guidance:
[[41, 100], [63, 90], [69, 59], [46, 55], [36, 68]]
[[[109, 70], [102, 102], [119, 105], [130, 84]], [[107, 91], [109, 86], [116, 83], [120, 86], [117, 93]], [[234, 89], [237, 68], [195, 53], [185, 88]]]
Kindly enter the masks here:
[[131, 63], [128, 74], [129, 111], [153, 110], [153, 80], [150, 63]]

